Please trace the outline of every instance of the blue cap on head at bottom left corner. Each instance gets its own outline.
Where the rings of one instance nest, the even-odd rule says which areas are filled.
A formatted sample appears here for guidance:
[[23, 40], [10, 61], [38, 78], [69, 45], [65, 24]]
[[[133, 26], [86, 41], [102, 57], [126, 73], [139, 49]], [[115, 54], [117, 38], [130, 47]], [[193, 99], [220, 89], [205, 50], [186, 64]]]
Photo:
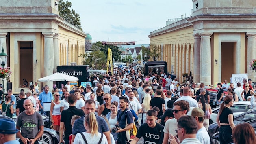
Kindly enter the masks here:
[[15, 134], [18, 130], [14, 121], [9, 119], [0, 119], [0, 133], [2, 134]]

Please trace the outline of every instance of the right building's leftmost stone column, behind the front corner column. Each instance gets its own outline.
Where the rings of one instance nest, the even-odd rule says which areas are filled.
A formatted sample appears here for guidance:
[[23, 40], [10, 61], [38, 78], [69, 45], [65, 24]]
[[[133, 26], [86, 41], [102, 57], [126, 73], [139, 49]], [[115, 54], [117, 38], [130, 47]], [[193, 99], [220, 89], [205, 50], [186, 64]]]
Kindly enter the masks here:
[[200, 81], [200, 35], [194, 34], [195, 44], [194, 44], [194, 66], [193, 66], [193, 81]]

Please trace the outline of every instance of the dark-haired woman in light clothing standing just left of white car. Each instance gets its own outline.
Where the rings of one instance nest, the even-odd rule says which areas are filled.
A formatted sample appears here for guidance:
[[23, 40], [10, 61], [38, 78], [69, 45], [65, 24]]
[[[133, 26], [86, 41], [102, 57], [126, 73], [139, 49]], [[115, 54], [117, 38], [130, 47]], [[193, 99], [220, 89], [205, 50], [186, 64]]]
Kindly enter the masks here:
[[[210, 114], [212, 114], [212, 108], [210, 107], [210, 104], [206, 103], [206, 100], [205, 100], [205, 89], [200, 89], [201, 91], [203, 91], [203, 95], [200, 97], [199, 99], [199, 102], [198, 102], [198, 106], [199, 108], [201, 108], [203, 111], [204, 111], [204, 127], [208, 130], [209, 128], [209, 119], [210, 119]], [[201, 92], [200, 91], [200, 92]]]

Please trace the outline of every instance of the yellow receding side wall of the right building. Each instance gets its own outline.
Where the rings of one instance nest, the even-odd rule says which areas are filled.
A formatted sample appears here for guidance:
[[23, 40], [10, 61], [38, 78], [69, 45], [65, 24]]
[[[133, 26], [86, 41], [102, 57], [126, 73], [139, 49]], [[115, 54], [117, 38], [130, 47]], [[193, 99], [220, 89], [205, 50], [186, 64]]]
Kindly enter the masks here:
[[[163, 61], [167, 62], [168, 72], [171, 73], [171, 66], [174, 66], [174, 74], [180, 82], [183, 81], [182, 73], [192, 71], [193, 74], [193, 26], [180, 28], [150, 37], [150, 44], [156, 45], [159, 52], [163, 45]], [[161, 58], [159, 58], [161, 60]]]

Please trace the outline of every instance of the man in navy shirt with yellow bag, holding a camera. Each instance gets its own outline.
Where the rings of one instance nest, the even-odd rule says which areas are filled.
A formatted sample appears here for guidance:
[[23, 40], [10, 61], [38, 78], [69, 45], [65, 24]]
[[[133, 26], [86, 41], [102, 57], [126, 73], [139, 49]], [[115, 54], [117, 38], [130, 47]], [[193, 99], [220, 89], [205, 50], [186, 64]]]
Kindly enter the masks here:
[[[119, 106], [120, 110], [117, 112], [117, 124], [119, 124], [120, 128], [117, 128], [118, 138], [117, 144], [126, 144], [127, 138], [125, 131], [132, 129], [133, 127], [133, 118], [132, 112], [127, 108], [128, 99], [127, 97], [119, 97]], [[127, 126], [126, 126], [127, 120]]]

